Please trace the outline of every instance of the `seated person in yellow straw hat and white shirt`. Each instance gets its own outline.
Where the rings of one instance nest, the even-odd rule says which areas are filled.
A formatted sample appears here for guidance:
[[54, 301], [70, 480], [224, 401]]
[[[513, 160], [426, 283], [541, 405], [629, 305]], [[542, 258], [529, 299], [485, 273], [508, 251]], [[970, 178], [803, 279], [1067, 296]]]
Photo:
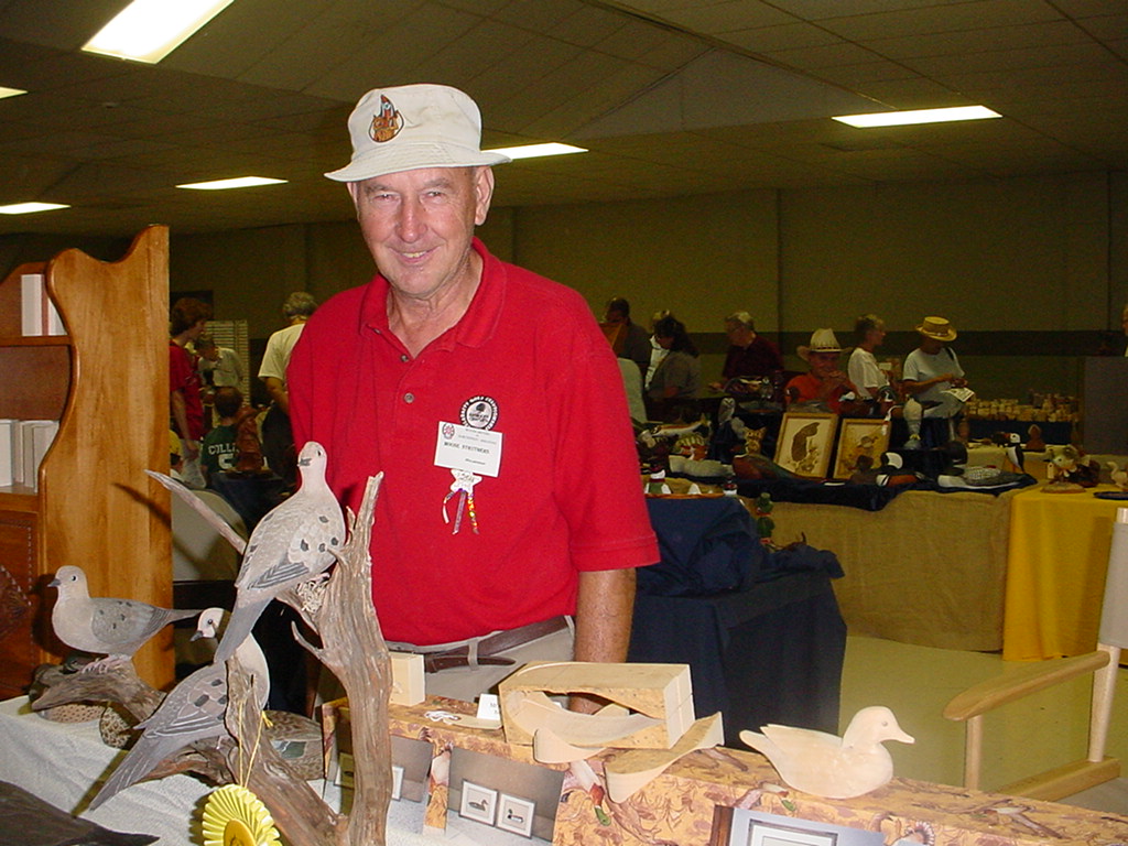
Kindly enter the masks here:
[[[955, 327], [943, 317], [926, 317], [916, 327], [920, 344], [905, 358], [901, 387], [906, 394], [905, 417], [909, 422], [909, 439], [919, 440], [925, 449], [941, 447], [955, 438], [955, 417], [963, 409], [963, 399], [953, 388], [966, 388], [963, 368], [955, 351], [948, 346], [955, 341]], [[920, 404], [923, 420], [914, 414], [909, 399]], [[914, 423], [919, 420], [919, 438], [914, 438]]]

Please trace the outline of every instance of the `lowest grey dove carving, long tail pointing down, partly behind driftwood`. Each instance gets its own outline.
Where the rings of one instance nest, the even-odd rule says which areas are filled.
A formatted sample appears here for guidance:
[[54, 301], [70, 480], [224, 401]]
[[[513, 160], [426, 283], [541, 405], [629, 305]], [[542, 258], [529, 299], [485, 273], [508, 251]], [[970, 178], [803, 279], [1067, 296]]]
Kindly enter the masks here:
[[[214, 637], [222, 619], [222, 608], [203, 611], [193, 640]], [[263, 708], [270, 691], [270, 676], [263, 651], [258, 649], [255, 638], [248, 636], [239, 644], [235, 655], [254, 679], [258, 707]], [[143, 733], [90, 802], [90, 810], [144, 778], [165, 758], [188, 743], [227, 734], [227, 725], [223, 723], [226, 714], [227, 666], [217, 661], [201, 667], [180, 681], [148, 720], [138, 723], [136, 728], [142, 729]]]

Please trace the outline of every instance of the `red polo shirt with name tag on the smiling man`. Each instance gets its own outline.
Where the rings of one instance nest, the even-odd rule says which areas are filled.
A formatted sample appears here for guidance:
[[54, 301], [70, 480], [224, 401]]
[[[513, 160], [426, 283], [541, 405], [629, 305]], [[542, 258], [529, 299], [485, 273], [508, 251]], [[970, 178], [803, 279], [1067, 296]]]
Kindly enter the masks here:
[[[294, 442], [319, 441], [355, 511], [384, 470], [372, 594], [391, 641], [443, 643], [575, 610], [578, 571], [659, 558], [614, 353], [573, 290], [482, 255], [459, 323], [413, 359], [389, 331], [388, 283], [310, 318], [287, 374]], [[474, 485], [475, 531], [435, 465], [440, 423], [502, 435]], [[450, 522], [443, 520], [443, 515]]]

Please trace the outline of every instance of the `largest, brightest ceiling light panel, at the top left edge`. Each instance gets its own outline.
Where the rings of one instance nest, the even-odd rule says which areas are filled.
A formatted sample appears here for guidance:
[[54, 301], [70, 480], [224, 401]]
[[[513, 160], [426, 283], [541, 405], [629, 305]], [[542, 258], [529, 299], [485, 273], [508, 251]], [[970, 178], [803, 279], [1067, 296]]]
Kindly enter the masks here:
[[133, 0], [82, 50], [156, 64], [230, 3], [231, 0]]

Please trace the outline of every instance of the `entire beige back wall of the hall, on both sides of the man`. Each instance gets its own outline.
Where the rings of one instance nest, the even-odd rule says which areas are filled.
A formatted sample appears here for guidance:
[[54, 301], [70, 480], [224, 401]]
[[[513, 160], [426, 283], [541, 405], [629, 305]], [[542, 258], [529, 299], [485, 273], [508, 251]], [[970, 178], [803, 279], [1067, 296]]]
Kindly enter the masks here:
[[[796, 338], [830, 326], [848, 343], [871, 310], [901, 331], [925, 314], [964, 332], [1119, 329], [1126, 221], [1128, 177], [1098, 174], [494, 209], [479, 236], [580, 290], [597, 315], [622, 294], [641, 323], [669, 308], [691, 333], [716, 333], [747, 309], [766, 333], [788, 333], [799, 368]], [[371, 272], [352, 221], [173, 233], [174, 290], [212, 288], [215, 316], [247, 318], [252, 337], [281, 325], [289, 291], [325, 299]], [[984, 396], [1077, 390], [1075, 356], [1008, 355], [1005, 341], [988, 352], [961, 355]], [[707, 355], [706, 379], [719, 369]]]

